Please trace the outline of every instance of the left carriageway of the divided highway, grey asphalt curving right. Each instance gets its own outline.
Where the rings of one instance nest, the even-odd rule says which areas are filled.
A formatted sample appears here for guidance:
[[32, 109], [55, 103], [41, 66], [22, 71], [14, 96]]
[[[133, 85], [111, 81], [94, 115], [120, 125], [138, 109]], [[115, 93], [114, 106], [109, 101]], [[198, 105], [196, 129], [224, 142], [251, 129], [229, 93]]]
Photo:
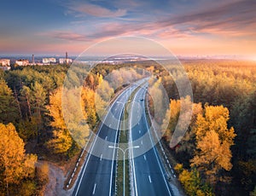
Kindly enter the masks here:
[[[73, 195], [114, 195], [116, 149], [108, 145], [115, 145], [118, 139], [119, 120], [124, 103], [137, 84], [125, 89], [108, 110], [97, 135], [92, 139], [90, 153], [84, 162]], [[109, 141], [109, 142], [107, 142]]]

